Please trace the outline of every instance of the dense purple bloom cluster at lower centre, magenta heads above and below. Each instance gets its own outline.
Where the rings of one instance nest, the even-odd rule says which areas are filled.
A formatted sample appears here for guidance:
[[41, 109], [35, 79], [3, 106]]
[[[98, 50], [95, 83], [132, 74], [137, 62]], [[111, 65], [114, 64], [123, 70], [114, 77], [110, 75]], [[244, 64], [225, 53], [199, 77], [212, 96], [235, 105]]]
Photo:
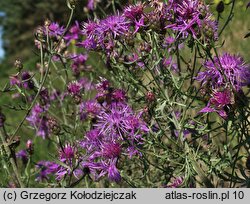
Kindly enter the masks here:
[[149, 129], [141, 119], [141, 113], [135, 114], [127, 104], [123, 90], [113, 90], [105, 79], [97, 85], [97, 90], [96, 102], [87, 102], [81, 108], [95, 117], [93, 128], [80, 141], [89, 155], [82, 165], [90, 169], [95, 179], [107, 174], [111, 181], [119, 182], [119, 158], [122, 155], [129, 158], [141, 156], [140, 145]]

